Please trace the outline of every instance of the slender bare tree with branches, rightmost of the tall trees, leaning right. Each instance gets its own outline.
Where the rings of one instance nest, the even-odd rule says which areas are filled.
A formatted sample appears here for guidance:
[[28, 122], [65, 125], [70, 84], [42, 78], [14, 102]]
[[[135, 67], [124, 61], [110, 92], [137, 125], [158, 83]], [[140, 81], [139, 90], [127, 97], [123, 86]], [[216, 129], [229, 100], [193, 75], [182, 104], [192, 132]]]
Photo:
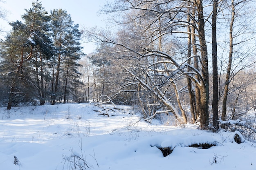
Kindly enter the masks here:
[[[251, 11], [248, 10], [249, 8], [247, 9], [247, 11], [241, 10], [245, 9], [247, 2], [249, 2], [249, 0], [241, 0], [236, 2], [234, 0], [231, 0], [231, 4], [227, 3], [227, 5], [229, 5], [231, 9], [231, 18], [229, 22], [229, 57], [222, 102], [221, 120], [223, 121], [226, 120], [227, 115], [227, 100], [228, 95], [230, 94], [229, 86], [231, 80], [234, 79], [239, 71], [248, 68], [249, 66], [251, 66], [251, 64], [253, 64], [253, 60], [248, 60], [248, 56], [251, 55], [253, 49], [251, 47], [247, 49], [247, 45], [245, 44], [255, 38], [254, 36], [251, 36], [253, 32], [249, 32], [251, 31], [250, 25], [252, 25], [253, 23], [252, 20], [250, 18], [247, 18], [245, 20], [245, 16], [248, 15]], [[242, 18], [243, 24], [236, 23], [237, 21], [239, 22], [239, 20], [241, 20]], [[240, 37], [245, 34], [249, 34], [249, 36], [243, 36], [243, 40], [240, 40]], [[236, 49], [238, 49], [238, 51], [235, 51], [235, 47]]]

